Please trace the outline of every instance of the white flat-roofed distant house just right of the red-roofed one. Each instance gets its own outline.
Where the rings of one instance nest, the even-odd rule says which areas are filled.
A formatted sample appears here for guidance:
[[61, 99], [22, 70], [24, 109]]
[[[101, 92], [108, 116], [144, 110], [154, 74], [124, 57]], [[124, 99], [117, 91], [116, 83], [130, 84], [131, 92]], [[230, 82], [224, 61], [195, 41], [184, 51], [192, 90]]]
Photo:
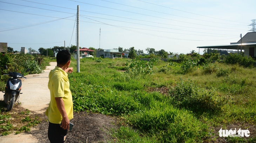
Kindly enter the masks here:
[[96, 52], [97, 57], [103, 57], [103, 58], [110, 58], [114, 59], [117, 58], [117, 55], [123, 55], [123, 52], [118, 52], [118, 49], [103, 49]]

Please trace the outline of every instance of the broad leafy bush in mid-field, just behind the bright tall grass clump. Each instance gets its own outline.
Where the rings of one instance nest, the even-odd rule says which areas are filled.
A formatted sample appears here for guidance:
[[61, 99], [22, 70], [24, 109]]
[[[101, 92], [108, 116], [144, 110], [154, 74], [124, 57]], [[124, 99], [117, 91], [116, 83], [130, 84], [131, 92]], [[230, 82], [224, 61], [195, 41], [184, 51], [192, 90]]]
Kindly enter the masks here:
[[178, 107], [186, 107], [196, 112], [222, 111], [226, 100], [214, 90], [199, 89], [192, 81], [181, 80], [176, 87], [170, 90], [172, 99]]

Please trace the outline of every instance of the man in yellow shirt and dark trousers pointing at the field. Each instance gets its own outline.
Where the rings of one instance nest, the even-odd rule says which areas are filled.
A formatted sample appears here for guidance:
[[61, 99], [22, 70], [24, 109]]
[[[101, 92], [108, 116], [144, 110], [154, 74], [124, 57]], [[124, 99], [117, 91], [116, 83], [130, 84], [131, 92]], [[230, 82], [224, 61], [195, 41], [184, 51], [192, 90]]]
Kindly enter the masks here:
[[69, 120], [73, 118], [73, 100], [67, 74], [73, 72], [73, 68], [69, 68], [70, 57], [68, 50], [59, 51], [56, 55], [57, 66], [49, 73], [50, 103], [45, 114], [49, 120], [48, 138], [51, 143], [65, 141]]

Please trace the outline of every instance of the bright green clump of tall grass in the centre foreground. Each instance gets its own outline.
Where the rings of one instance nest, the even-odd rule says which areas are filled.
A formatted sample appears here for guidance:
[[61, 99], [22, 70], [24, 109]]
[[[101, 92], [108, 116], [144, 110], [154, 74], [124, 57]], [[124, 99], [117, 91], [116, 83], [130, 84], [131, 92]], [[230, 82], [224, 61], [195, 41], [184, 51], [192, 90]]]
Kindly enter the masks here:
[[149, 110], [126, 116], [131, 125], [157, 135], [159, 142], [195, 142], [207, 134], [206, 125], [187, 110], [166, 102], [152, 102]]

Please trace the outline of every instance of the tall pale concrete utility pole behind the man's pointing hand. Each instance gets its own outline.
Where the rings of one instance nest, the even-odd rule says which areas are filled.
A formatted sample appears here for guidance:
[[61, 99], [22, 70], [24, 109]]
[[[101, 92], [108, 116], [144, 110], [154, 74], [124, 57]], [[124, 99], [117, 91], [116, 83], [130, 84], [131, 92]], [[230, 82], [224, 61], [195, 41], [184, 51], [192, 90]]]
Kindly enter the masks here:
[[76, 72], [80, 73], [80, 51], [79, 51], [79, 5], [78, 5], [78, 12], [76, 14]]

